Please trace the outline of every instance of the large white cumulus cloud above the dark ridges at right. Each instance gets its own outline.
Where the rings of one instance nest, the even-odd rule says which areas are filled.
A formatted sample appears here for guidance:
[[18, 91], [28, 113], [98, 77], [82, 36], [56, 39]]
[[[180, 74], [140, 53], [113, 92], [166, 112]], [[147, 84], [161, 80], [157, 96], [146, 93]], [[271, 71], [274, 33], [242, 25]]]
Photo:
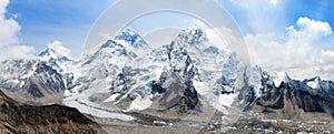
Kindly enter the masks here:
[[288, 27], [286, 35], [278, 33], [247, 34], [253, 63], [269, 71], [286, 71], [295, 79], [322, 76], [334, 79], [334, 50], [322, 50], [317, 40], [332, 34], [327, 22], [299, 18]]

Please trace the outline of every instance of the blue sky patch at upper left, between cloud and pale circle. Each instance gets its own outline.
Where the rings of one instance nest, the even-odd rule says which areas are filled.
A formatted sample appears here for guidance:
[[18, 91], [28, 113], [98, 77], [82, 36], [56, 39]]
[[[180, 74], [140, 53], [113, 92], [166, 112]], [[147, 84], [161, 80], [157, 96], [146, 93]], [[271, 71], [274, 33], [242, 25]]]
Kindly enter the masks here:
[[18, 14], [19, 39], [39, 52], [59, 40], [75, 55], [82, 51], [85, 38], [111, 0], [11, 0], [7, 17]]

